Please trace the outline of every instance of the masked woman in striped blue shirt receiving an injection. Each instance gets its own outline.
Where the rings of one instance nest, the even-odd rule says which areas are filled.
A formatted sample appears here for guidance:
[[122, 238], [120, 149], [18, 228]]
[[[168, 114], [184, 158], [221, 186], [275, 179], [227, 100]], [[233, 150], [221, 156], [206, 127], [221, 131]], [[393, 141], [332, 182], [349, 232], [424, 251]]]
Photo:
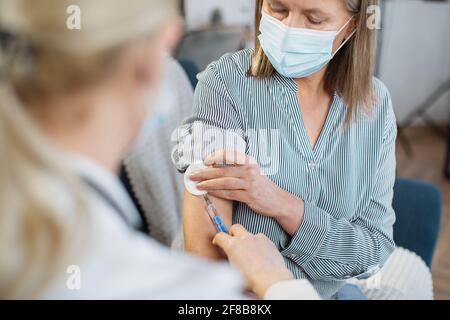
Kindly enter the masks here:
[[[267, 235], [324, 298], [395, 246], [396, 120], [368, 24], [377, 4], [258, 0], [255, 47], [200, 75], [174, 151], [179, 170], [204, 160], [190, 179], [226, 224]], [[203, 199], [186, 193], [186, 250], [221, 258], [214, 232]]]

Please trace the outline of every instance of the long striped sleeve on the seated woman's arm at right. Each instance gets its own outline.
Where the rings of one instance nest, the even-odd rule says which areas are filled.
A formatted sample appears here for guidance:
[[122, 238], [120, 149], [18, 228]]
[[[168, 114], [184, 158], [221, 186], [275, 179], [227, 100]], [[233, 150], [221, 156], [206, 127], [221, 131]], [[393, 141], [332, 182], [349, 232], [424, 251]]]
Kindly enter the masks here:
[[365, 209], [351, 220], [336, 219], [306, 202], [303, 221], [282, 251], [288, 264], [295, 264], [314, 280], [368, 278], [377, 272], [394, 250], [392, 208], [395, 183], [397, 125], [389, 94], [383, 144], [376, 179]]

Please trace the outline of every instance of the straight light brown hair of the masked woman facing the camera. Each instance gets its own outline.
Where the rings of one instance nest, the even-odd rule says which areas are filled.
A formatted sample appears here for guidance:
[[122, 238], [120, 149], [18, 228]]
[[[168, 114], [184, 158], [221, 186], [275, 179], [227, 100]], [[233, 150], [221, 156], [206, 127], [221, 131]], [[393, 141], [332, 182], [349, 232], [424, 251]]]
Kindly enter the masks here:
[[[333, 95], [337, 92], [347, 106], [345, 124], [348, 125], [362, 108], [370, 111], [375, 103], [373, 75], [375, 66], [376, 30], [367, 27], [369, 8], [379, 0], [342, 0], [356, 19], [356, 33], [328, 64], [325, 73], [325, 89]], [[256, 0], [255, 49], [249, 75], [270, 77], [274, 68], [261, 48], [258, 36], [264, 0]]]

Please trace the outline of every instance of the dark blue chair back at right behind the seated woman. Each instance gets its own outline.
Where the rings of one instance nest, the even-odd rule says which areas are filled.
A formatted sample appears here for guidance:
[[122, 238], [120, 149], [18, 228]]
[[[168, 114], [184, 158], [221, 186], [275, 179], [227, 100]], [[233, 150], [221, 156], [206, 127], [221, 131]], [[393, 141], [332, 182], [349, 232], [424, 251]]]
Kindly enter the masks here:
[[432, 184], [397, 178], [394, 187], [394, 240], [431, 266], [439, 234], [441, 195]]

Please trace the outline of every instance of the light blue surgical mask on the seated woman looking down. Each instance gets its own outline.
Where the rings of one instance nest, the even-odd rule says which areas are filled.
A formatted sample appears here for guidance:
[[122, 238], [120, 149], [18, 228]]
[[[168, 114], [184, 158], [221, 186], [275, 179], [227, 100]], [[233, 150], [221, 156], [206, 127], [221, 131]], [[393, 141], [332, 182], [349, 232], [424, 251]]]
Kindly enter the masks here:
[[334, 39], [352, 19], [339, 31], [319, 31], [288, 27], [263, 10], [258, 39], [279, 74], [287, 78], [304, 78], [325, 67], [353, 36], [356, 30], [332, 53]]

